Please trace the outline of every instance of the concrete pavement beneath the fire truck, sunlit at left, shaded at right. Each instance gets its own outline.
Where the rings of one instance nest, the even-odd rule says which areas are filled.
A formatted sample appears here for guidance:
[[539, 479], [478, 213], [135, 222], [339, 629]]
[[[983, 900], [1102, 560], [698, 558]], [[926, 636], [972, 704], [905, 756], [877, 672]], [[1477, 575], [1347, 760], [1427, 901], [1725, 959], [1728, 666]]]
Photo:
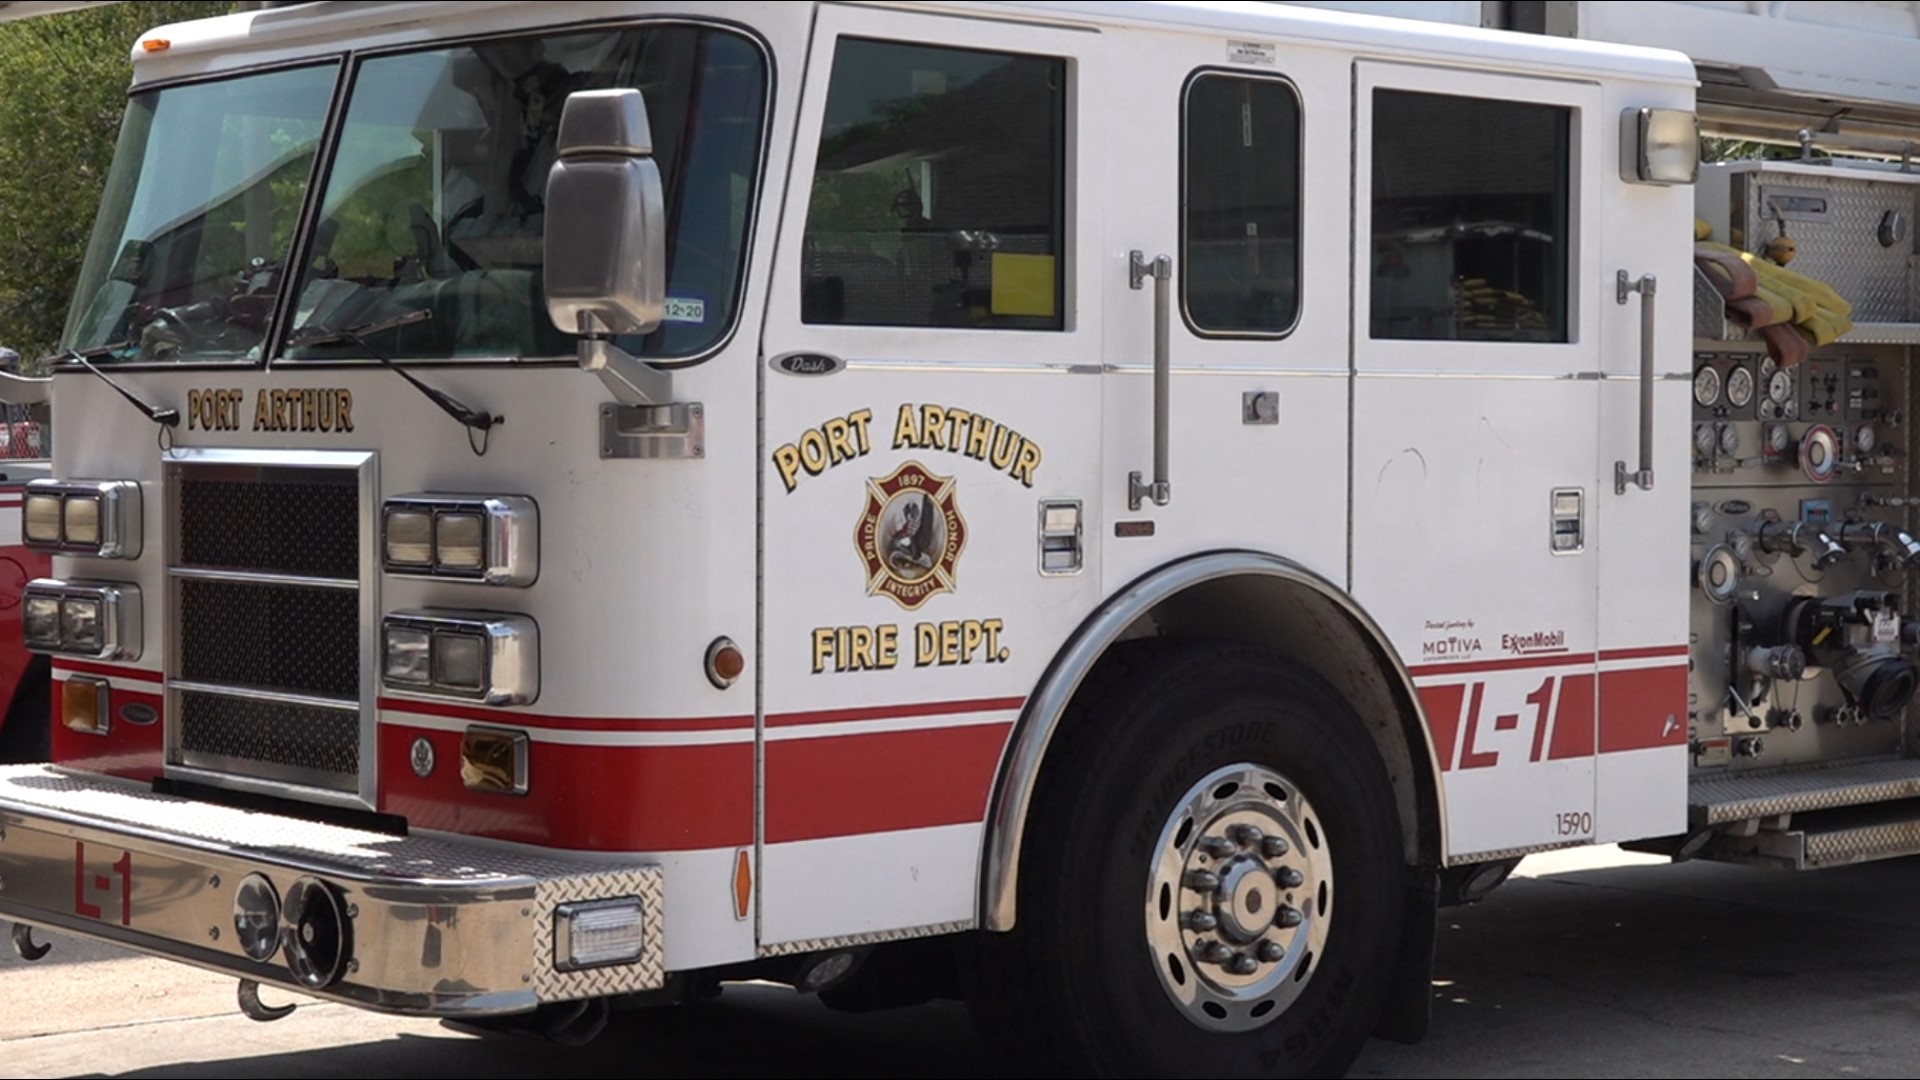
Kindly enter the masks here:
[[[618, 1017], [588, 1047], [301, 1001], [236, 1013], [234, 984], [50, 938], [0, 957], [6, 1076], [1018, 1076], [966, 1011], [849, 1017], [766, 984]], [[1920, 863], [1788, 874], [1668, 867], [1615, 847], [1528, 859], [1442, 913], [1434, 1024], [1352, 1076], [1920, 1076]]]

